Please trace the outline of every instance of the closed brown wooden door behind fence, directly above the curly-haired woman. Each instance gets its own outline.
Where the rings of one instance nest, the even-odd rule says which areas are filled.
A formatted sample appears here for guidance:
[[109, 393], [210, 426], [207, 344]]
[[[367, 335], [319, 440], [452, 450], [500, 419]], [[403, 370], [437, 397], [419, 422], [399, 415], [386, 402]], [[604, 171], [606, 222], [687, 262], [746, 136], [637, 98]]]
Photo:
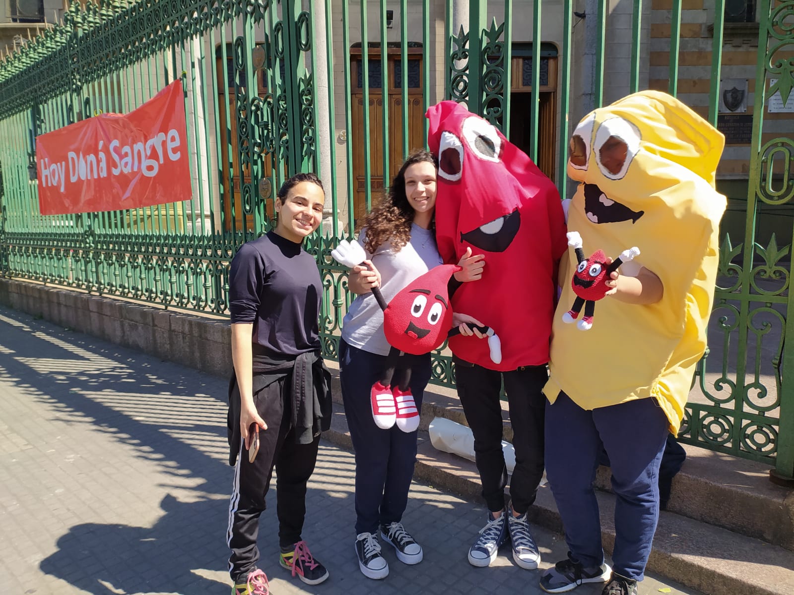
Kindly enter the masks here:
[[[414, 51], [415, 52], [415, 51]], [[421, 52], [421, 50], [420, 50]], [[351, 114], [351, 131], [353, 138], [353, 217], [356, 225], [367, 213], [366, 188], [367, 178], [364, 171], [364, 89], [363, 69], [360, 54], [351, 56], [351, 73], [353, 75]], [[368, 56], [369, 71], [369, 163], [370, 192], [372, 205], [376, 205], [384, 194], [384, 186], [391, 183], [397, 175], [406, 155], [403, 155], [403, 67], [400, 63], [399, 50], [388, 54], [387, 63], [387, 94], [388, 94], [388, 146], [384, 149], [384, 98], [381, 84], [380, 49], [370, 52]], [[407, 132], [408, 151], [425, 146], [422, 110], [422, 54], [410, 53], [407, 67], [408, 106]], [[384, 182], [384, 150], [388, 151], [389, 171]]]

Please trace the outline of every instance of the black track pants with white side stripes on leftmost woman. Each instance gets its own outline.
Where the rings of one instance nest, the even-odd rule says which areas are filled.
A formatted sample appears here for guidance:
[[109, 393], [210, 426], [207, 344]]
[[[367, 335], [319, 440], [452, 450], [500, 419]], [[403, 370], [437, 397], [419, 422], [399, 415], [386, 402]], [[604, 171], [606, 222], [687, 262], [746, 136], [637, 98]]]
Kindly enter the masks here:
[[[287, 388], [287, 395], [284, 388]], [[254, 395], [256, 410], [267, 430], [260, 430], [259, 454], [249, 463], [249, 453], [241, 443], [234, 467], [234, 484], [229, 501], [229, 529], [226, 543], [232, 550], [229, 558], [229, 575], [236, 583], [245, 582], [249, 572], [256, 568], [259, 549], [259, 517], [265, 509], [273, 467], [276, 467], [276, 513], [279, 517], [279, 545], [290, 546], [301, 540], [303, 519], [306, 516], [306, 482], [314, 471], [320, 437], [314, 442], [295, 442], [291, 428], [288, 391], [291, 376], [266, 386]], [[232, 398], [240, 398], [234, 386]], [[286, 406], [285, 406], [286, 405]], [[276, 560], [272, 561], [273, 564]]]

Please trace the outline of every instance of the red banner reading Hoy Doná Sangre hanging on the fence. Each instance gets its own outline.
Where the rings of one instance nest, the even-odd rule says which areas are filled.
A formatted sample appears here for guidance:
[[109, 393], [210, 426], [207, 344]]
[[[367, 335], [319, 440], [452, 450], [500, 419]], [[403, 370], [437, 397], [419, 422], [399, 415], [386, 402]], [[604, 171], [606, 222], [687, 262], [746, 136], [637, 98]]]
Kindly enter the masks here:
[[102, 113], [37, 136], [42, 215], [191, 199], [182, 82], [130, 113]]

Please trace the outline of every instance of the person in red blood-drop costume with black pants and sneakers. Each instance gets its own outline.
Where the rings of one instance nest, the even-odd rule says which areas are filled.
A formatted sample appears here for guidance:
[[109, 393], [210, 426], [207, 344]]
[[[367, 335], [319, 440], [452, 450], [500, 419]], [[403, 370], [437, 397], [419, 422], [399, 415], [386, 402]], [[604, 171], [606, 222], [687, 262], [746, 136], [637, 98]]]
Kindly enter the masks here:
[[[503, 358], [461, 332], [449, 340], [457, 390], [475, 440], [476, 464], [490, 515], [468, 561], [489, 566], [509, 530], [518, 566], [538, 566], [526, 522], [543, 474], [544, 407], [557, 267], [567, 249], [560, 195], [531, 159], [483, 118], [455, 102], [428, 109], [428, 145], [438, 158], [436, 240], [445, 263], [467, 248], [485, 255], [480, 282], [451, 295], [456, 313], [499, 329]], [[511, 515], [504, 515], [507, 470], [499, 394], [507, 391], [516, 466]], [[509, 517], [509, 523], [505, 521]]]

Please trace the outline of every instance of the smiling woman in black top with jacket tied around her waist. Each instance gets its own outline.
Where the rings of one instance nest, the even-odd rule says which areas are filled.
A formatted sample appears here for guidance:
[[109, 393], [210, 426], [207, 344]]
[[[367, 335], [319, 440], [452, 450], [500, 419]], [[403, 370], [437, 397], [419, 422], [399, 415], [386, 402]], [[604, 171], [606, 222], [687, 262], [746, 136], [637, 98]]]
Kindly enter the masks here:
[[229, 271], [229, 464], [235, 471], [227, 541], [233, 595], [268, 593], [268, 579], [256, 568], [256, 535], [274, 466], [279, 563], [310, 585], [328, 578], [301, 538], [306, 482], [331, 415], [330, 374], [318, 331], [320, 274], [301, 247], [320, 225], [324, 201], [316, 175], [289, 178], [276, 198], [276, 228], [244, 244]]

